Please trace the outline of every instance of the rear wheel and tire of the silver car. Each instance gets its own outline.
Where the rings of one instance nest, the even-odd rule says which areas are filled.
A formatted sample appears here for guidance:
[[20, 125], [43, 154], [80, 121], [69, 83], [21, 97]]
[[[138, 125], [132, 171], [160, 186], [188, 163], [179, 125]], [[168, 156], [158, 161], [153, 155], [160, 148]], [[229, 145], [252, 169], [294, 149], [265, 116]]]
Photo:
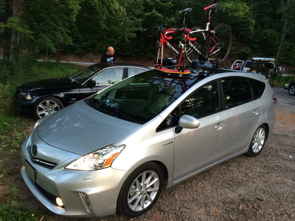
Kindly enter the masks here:
[[263, 149], [267, 136], [267, 129], [262, 124], [255, 132], [248, 149], [248, 155], [250, 157], [257, 156]]

